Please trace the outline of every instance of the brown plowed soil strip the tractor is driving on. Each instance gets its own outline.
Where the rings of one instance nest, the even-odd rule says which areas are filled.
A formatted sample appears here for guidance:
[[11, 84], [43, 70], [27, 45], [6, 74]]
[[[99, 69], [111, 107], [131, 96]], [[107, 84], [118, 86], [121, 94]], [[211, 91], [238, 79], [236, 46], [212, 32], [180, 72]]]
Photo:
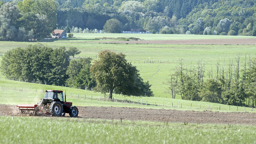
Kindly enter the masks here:
[[[82, 107], [78, 106], [79, 118], [104, 120], [143, 120], [160, 122], [189, 122], [212, 124], [250, 124], [256, 125], [256, 113], [156, 110], [142, 108]], [[16, 116], [18, 108], [13, 105], [0, 105], [0, 115]], [[68, 114], [66, 114], [68, 115]]]

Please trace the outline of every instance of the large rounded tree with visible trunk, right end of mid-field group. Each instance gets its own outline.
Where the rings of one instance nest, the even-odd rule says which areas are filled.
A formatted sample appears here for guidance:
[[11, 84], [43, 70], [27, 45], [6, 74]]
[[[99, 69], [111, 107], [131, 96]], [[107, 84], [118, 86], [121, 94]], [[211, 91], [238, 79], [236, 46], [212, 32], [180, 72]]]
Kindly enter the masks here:
[[112, 98], [113, 91], [128, 96], [152, 94], [150, 85], [142, 81], [138, 70], [127, 62], [124, 54], [104, 50], [99, 53], [98, 58], [91, 67], [97, 84], [96, 91], [109, 92], [109, 98]]

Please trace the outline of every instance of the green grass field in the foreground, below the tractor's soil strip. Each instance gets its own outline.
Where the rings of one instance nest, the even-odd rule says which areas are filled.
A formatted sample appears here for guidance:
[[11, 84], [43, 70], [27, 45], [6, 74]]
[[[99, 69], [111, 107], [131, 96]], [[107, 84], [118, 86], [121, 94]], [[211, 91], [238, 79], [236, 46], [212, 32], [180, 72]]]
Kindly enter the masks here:
[[0, 116], [1, 144], [255, 144], [256, 126]]

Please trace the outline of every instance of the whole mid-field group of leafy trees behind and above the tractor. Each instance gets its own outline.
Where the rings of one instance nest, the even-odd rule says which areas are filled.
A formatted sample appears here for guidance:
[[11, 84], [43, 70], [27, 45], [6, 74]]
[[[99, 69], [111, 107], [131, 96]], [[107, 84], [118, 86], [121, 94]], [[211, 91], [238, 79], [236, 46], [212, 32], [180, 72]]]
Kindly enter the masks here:
[[[50, 48], [43, 44], [14, 48], [2, 57], [0, 70], [8, 79], [66, 85], [126, 96], [153, 96], [151, 85], [122, 53], [99, 53], [98, 60], [75, 58], [78, 48]], [[70, 58], [72, 56], [73, 58]]]

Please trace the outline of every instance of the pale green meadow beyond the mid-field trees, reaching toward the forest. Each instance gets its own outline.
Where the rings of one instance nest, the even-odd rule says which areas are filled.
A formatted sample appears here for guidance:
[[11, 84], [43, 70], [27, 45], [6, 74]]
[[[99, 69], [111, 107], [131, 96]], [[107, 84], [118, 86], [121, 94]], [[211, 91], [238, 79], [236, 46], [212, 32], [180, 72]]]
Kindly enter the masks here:
[[[98, 44], [88, 43], [88, 41], [100, 37], [137, 37], [144, 40], [171, 40], [171, 39], [222, 39], [222, 38], [253, 38], [248, 36], [203, 36], [203, 35], [176, 35], [176, 34], [75, 34], [77, 38], [62, 39], [42, 42], [50, 47], [57, 48], [60, 46], [75, 46], [79, 48], [81, 54], [78, 56], [90, 56], [96, 58], [101, 50], [110, 49], [116, 52], [126, 54], [128, 62], [132, 62], [140, 70], [140, 74], [144, 80], [152, 84], [152, 90], [156, 97], [169, 97], [167, 93], [167, 85], [164, 84], [168, 80], [170, 73], [178, 66], [178, 62], [182, 59], [185, 65], [190, 68], [190, 64], [194, 64], [195, 68], [198, 60], [205, 62], [205, 77], [208, 70], [213, 67], [213, 73], [216, 73], [216, 63], [220, 60], [222, 67], [224, 62], [226, 68], [229, 60], [234, 60], [237, 54], [241, 54], [241, 62], [243, 63], [245, 54], [250, 54], [251, 58], [256, 57], [256, 49], [253, 45], [167, 45], [167, 44]], [[34, 42], [1, 42], [0, 52], [6, 52], [11, 48], [26, 47]], [[154, 63], [150, 63], [154, 60]], [[147, 63], [149, 62], [149, 63]], [[176, 98], [180, 98], [177, 96]]]

